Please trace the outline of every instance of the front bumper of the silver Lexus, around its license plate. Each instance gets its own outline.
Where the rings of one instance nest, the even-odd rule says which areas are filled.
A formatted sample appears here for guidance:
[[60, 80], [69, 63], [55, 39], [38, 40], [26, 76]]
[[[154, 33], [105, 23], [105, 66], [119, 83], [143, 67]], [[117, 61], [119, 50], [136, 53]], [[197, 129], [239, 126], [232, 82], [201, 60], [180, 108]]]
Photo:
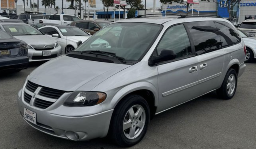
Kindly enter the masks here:
[[[43, 56], [43, 51], [51, 51], [51, 56]], [[29, 62], [51, 60], [61, 55], [61, 46], [52, 50], [28, 50]]]

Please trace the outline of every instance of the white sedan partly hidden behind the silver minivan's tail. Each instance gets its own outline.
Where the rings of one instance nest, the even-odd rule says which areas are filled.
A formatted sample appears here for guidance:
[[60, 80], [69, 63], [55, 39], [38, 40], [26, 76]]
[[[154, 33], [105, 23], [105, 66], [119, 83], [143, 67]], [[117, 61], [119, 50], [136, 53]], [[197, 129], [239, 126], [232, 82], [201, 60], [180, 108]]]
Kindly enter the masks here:
[[256, 37], [252, 37], [240, 29], [237, 30], [246, 45], [245, 62], [251, 62], [256, 58]]

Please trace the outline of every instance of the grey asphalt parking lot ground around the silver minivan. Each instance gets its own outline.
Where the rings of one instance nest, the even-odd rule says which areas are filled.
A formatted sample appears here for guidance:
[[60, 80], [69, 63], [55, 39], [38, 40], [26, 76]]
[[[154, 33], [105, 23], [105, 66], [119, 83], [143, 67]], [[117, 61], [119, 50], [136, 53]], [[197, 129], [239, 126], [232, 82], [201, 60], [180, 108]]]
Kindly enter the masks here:
[[[30, 127], [19, 114], [16, 98], [27, 75], [41, 63], [19, 73], [0, 74], [0, 149], [110, 149], [119, 148], [108, 138], [74, 142]], [[140, 149], [255, 149], [256, 61], [247, 64], [231, 100], [215, 92], [187, 102], [150, 122]]]

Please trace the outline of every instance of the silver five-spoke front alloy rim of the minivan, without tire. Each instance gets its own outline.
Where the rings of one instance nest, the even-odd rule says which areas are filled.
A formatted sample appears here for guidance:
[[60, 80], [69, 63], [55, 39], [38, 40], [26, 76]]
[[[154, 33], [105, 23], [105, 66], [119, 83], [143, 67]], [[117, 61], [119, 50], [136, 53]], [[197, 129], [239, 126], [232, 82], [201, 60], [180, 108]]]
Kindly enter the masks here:
[[124, 135], [128, 139], [134, 139], [138, 137], [146, 122], [146, 113], [142, 106], [132, 106], [124, 117], [123, 130]]

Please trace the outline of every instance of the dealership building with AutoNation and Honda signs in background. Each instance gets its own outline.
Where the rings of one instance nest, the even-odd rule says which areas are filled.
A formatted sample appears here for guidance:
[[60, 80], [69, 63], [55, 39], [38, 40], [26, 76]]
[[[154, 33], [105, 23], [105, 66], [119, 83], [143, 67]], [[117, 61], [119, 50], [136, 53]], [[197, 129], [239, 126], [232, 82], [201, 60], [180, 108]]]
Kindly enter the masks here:
[[[213, 1], [199, 1], [199, 4], [189, 6], [189, 14], [212, 14], [219, 15], [223, 18], [228, 18], [227, 1], [215, 0]], [[256, 19], [256, 1], [255, 0], [241, 0], [240, 4], [236, 4], [230, 8], [231, 17], [237, 22], [243, 22], [246, 19]], [[162, 13], [171, 14], [186, 14], [186, 5], [179, 3], [162, 4]], [[192, 12], [193, 11], [193, 12]]]

